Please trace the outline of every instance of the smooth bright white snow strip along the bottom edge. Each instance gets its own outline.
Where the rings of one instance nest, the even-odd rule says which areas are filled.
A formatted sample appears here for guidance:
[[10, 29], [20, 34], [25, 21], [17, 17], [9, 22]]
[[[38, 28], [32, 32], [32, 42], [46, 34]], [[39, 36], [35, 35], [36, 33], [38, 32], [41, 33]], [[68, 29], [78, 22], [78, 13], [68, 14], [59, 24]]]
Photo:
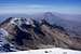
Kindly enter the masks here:
[[18, 52], [5, 52], [0, 54], [81, 54], [81, 52], [54, 48], [54, 49], [42, 49], [42, 50], [18, 51]]

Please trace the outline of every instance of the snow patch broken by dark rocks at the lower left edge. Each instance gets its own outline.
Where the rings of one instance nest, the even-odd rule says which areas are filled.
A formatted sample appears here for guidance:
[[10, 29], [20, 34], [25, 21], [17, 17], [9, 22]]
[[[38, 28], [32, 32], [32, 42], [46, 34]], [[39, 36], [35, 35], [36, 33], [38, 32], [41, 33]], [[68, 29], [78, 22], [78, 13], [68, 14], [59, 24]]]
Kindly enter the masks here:
[[9, 36], [8, 31], [0, 28], [0, 52], [14, 52], [17, 51], [14, 46], [5, 39]]

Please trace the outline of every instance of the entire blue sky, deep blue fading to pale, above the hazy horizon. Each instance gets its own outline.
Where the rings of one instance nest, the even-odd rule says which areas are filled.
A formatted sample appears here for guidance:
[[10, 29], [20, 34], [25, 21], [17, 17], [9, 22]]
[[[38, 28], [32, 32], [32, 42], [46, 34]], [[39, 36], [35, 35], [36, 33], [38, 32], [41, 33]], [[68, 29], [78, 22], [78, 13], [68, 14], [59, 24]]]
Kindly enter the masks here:
[[81, 0], [0, 0], [0, 14], [38, 12], [81, 14]]

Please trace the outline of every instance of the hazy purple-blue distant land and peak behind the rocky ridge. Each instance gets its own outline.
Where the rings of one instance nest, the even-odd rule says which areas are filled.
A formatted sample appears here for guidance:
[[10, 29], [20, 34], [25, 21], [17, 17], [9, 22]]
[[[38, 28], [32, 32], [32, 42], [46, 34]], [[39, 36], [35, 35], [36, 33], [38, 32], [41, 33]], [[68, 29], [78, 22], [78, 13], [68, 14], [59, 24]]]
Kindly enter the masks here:
[[[60, 14], [56, 12], [45, 12], [45, 13], [37, 13], [32, 15], [28, 14], [4, 14], [0, 15], [0, 21], [4, 21], [8, 17], [27, 17], [27, 18], [35, 18], [40, 21], [45, 18], [51, 24], [56, 24], [58, 26], [64, 27], [67, 31], [75, 37], [81, 36], [81, 15], [80, 14]], [[0, 22], [0, 23], [1, 23]]]

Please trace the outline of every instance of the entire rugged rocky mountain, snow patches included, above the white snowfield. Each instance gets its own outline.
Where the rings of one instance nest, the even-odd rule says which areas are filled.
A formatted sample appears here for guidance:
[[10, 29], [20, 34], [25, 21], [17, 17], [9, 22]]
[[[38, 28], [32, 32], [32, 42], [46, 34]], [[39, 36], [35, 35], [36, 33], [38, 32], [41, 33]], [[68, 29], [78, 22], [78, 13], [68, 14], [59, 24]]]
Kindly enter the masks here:
[[81, 50], [81, 39], [70, 38], [62, 26], [44, 18], [10, 17], [0, 24], [0, 51], [15, 52], [49, 48]]

